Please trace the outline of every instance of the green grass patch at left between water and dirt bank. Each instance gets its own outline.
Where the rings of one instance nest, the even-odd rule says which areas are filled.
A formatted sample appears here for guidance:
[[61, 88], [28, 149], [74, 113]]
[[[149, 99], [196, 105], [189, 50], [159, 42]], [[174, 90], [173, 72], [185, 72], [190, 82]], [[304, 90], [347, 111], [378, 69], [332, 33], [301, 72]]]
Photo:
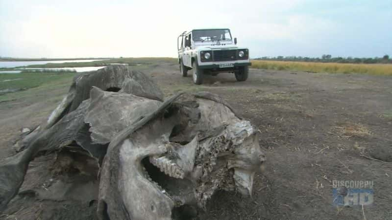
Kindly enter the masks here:
[[8, 100], [9, 92], [24, 91], [30, 88], [45, 87], [55, 82], [71, 82], [74, 72], [25, 72], [0, 74], [0, 101]]

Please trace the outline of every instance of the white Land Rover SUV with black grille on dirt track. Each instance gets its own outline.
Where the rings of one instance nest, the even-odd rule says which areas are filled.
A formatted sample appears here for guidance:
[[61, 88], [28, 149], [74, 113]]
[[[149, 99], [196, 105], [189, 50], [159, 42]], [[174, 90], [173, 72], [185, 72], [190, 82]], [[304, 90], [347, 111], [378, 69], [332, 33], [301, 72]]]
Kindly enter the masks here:
[[234, 73], [237, 81], [248, 78], [249, 50], [238, 47], [227, 28], [185, 31], [177, 38], [177, 49], [182, 76], [192, 69], [195, 84], [203, 83], [203, 74], [220, 72]]

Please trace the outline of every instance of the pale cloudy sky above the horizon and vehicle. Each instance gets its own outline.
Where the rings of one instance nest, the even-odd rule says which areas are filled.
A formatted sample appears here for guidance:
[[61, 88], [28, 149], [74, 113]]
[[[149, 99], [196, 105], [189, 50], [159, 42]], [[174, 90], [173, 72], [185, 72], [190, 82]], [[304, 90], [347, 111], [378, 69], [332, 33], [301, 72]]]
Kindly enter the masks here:
[[230, 28], [250, 57], [392, 55], [392, 0], [0, 0], [0, 56], [177, 57]]

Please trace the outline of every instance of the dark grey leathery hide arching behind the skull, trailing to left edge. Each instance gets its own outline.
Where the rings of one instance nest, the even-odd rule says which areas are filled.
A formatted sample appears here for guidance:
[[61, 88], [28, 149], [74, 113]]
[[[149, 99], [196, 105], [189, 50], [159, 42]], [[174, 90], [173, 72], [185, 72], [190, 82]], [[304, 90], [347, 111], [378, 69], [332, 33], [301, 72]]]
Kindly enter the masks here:
[[0, 211], [18, 193], [28, 163], [38, 152], [59, 149], [76, 142], [98, 160], [103, 159], [107, 145], [94, 144], [88, 131], [89, 126], [84, 122], [93, 86], [104, 90], [117, 88], [120, 89], [119, 93], [132, 93], [151, 100], [163, 99], [162, 91], [150, 77], [127, 66], [107, 66], [75, 76], [68, 94], [51, 113], [48, 122], [19, 141], [19, 144], [25, 146], [19, 146], [18, 149], [25, 150], [0, 161]]

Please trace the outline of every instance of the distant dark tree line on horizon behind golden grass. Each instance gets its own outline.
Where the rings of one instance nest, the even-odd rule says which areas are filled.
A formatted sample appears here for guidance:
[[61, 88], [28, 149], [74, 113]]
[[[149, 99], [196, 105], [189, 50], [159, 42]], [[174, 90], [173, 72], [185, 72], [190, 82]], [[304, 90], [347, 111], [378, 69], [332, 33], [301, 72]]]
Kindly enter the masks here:
[[272, 61], [297, 61], [297, 62], [319, 62], [319, 63], [343, 63], [343, 64], [392, 64], [389, 55], [374, 58], [358, 57], [332, 57], [330, 54], [323, 54], [321, 57], [301, 57], [301, 56], [277, 56], [277, 57], [260, 57], [255, 60], [272, 60]]

